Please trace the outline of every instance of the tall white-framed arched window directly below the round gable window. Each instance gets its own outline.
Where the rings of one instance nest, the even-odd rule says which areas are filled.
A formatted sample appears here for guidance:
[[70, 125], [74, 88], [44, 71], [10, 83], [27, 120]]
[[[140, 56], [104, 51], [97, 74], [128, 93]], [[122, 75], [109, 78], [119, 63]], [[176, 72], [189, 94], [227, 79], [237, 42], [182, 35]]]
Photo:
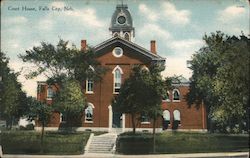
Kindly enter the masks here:
[[113, 70], [113, 75], [114, 75], [114, 88], [113, 88], [113, 92], [115, 94], [118, 94], [120, 89], [121, 89], [121, 84], [122, 84], [122, 69], [120, 68], [120, 66], [116, 66]]

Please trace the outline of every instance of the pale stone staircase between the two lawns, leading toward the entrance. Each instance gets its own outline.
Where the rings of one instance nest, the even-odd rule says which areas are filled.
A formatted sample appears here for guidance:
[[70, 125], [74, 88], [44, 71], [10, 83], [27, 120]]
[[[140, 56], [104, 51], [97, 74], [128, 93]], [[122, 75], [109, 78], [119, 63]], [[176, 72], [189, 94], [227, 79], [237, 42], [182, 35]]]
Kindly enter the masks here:
[[115, 152], [117, 134], [107, 133], [99, 136], [90, 136], [86, 145], [85, 153], [106, 153]]

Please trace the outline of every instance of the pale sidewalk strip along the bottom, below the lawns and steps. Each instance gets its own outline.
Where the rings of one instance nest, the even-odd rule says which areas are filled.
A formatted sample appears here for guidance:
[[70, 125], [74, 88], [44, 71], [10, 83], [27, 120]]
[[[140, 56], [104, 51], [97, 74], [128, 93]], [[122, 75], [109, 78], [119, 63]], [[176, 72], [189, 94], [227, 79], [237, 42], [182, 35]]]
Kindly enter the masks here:
[[194, 153], [194, 154], [157, 154], [157, 155], [117, 155], [117, 154], [84, 154], [84, 155], [3, 155], [3, 158], [205, 158], [237, 157], [248, 158], [249, 152], [230, 153]]

